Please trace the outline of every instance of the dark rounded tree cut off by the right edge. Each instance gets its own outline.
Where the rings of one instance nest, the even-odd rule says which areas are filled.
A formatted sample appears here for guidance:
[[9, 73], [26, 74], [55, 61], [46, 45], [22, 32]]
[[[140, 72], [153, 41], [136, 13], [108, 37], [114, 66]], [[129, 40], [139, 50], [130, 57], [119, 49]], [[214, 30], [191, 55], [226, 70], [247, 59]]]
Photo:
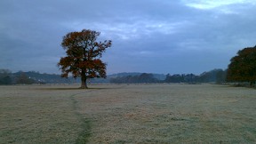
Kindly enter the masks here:
[[247, 47], [237, 52], [228, 65], [227, 80], [233, 82], [256, 81], [256, 46]]

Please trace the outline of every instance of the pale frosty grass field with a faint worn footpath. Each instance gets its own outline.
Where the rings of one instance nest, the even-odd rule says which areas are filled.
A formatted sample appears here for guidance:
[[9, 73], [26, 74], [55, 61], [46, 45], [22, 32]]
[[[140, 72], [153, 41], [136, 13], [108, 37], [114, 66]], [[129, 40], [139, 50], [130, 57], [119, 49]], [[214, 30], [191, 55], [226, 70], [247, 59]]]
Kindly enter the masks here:
[[0, 86], [0, 143], [255, 143], [256, 91], [214, 84]]

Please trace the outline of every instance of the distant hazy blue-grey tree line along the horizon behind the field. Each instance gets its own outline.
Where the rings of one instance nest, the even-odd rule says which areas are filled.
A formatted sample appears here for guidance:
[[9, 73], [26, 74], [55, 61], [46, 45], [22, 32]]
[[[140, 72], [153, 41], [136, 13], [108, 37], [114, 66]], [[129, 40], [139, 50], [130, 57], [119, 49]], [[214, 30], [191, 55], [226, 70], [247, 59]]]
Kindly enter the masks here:
[[[112, 84], [149, 84], [149, 83], [223, 83], [226, 70], [213, 69], [199, 76], [194, 74], [157, 75], [149, 73], [118, 73], [107, 78], [92, 78], [90, 83], [112, 83]], [[159, 77], [161, 76], [161, 77]], [[88, 80], [89, 81], [89, 80]], [[40, 74], [36, 71], [12, 73], [9, 69], [0, 69], [0, 84], [77, 84], [81, 83], [79, 78], [62, 78], [56, 74]]]

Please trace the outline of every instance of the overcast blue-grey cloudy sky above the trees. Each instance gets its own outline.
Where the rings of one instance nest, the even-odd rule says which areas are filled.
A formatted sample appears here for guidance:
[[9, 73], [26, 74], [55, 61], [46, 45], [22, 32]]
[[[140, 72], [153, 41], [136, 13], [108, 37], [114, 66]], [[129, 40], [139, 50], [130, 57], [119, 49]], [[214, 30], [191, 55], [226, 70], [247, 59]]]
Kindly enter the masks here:
[[200, 74], [256, 44], [255, 0], [1, 0], [0, 68], [60, 74], [68, 32], [100, 31], [108, 74]]

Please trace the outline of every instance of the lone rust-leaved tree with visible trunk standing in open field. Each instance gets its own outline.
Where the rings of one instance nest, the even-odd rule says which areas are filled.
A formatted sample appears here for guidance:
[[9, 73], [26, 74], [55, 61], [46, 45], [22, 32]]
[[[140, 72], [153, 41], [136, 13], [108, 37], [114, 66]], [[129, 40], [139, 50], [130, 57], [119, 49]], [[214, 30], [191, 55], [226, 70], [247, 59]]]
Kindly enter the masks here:
[[60, 58], [58, 63], [62, 77], [81, 77], [81, 88], [88, 88], [86, 80], [94, 77], [106, 77], [106, 63], [100, 58], [111, 46], [111, 40], [98, 42], [100, 32], [83, 29], [81, 32], [70, 32], [63, 37], [61, 46], [67, 56]]

